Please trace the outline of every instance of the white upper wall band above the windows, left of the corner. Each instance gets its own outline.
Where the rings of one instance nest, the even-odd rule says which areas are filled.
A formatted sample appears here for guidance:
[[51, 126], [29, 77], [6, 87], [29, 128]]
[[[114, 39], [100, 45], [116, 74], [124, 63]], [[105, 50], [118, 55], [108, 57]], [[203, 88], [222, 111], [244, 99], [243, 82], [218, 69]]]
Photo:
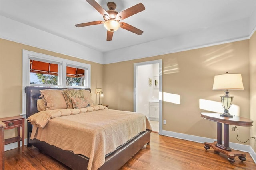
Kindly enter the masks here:
[[0, 15], [0, 38], [103, 64], [103, 53]]

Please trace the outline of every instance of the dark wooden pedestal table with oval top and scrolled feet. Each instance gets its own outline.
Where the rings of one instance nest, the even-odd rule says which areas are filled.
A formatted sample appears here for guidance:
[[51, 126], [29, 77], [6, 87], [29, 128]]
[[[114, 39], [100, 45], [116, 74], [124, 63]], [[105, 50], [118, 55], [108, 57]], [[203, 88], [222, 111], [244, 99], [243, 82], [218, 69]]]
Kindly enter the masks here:
[[[228, 156], [230, 163], [235, 162], [235, 156], [241, 161], [245, 161], [245, 153], [237, 150], [233, 150], [229, 147], [229, 125], [237, 126], [252, 126], [253, 121], [243, 117], [222, 117], [220, 113], [201, 113], [201, 117], [210, 121], [217, 122], [217, 141], [213, 143], [204, 143], [204, 148], [213, 148], [214, 152], [219, 154], [220, 152]], [[222, 123], [224, 124], [224, 144], [222, 144]]]

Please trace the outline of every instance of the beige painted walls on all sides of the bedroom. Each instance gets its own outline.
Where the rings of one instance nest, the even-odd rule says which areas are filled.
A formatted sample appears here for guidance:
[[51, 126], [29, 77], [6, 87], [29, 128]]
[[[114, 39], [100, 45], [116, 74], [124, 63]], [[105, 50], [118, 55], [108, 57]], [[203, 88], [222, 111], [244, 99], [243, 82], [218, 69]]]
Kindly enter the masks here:
[[[200, 112], [205, 110], [199, 109], [199, 99], [220, 101], [223, 92], [212, 90], [216, 74], [242, 74], [244, 90], [231, 92], [234, 96], [233, 104], [240, 106], [240, 116], [251, 119], [254, 116], [256, 121], [255, 108], [252, 108], [252, 102], [256, 101], [252, 98], [252, 93], [255, 97], [256, 88], [255, 82], [252, 84], [252, 81], [254, 90], [251, 90], [251, 113], [249, 104], [249, 77], [253, 79], [256, 76], [256, 52], [255, 48], [252, 48], [256, 44], [255, 37], [254, 33], [250, 40], [105, 65], [0, 39], [0, 117], [16, 116], [22, 111], [22, 49], [91, 64], [93, 100], [95, 101], [95, 88], [101, 87], [104, 92], [103, 104], [108, 104], [110, 109], [126, 111], [133, 111], [133, 64], [162, 59], [163, 92], [181, 96], [180, 105], [163, 102], [163, 119], [167, 122], [163, 129], [216, 139], [216, 123], [202, 119]], [[249, 51], [250, 67], [254, 67], [254, 70], [250, 70], [251, 75]], [[170, 68], [174, 67], [178, 72], [170, 71]], [[252, 135], [250, 127], [238, 128], [240, 140], [245, 141]], [[256, 134], [255, 124], [252, 129], [253, 134]], [[12, 137], [14, 131], [8, 130], [5, 135], [6, 138]], [[230, 141], [240, 143], [236, 140], [236, 132], [230, 131]], [[251, 145], [255, 150], [255, 145]]]

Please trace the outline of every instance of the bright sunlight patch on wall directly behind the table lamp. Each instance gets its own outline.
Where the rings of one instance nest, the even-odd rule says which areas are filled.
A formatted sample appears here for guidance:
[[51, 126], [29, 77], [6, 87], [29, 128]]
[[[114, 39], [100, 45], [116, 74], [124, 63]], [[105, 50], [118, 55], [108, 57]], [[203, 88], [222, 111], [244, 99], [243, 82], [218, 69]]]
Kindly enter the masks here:
[[[213, 100], [199, 99], [199, 108], [207, 111], [212, 111], [214, 113], [224, 113], [224, 108], [221, 102], [216, 102]], [[232, 104], [229, 113], [235, 116], [240, 115], [240, 107], [238, 105]]]

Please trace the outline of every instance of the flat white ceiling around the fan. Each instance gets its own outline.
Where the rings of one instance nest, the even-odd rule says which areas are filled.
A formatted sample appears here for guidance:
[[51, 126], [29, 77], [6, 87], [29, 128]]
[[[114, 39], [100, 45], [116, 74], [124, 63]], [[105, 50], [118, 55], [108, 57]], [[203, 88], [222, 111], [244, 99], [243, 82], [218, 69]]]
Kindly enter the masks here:
[[[109, 0], [96, 0], [105, 10]], [[103, 20], [85, 0], [0, 0], [0, 15], [81, 45], [109, 52], [166, 37], [182, 35], [232, 21], [247, 19], [256, 0], [113, 0], [121, 12], [138, 3], [146, 10], [121, 20], [144, 31], [136, 35], [125, 29], [106, 41], [103, 25], [74, 25]]]

